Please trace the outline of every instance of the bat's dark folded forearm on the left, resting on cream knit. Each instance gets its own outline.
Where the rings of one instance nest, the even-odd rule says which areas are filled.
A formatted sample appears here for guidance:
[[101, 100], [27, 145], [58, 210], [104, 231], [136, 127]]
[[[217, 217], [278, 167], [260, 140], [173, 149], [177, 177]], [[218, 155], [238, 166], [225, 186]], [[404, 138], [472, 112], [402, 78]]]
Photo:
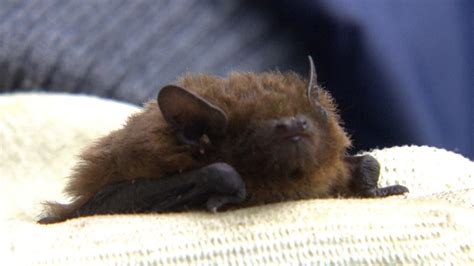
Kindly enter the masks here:
[[200, 207], [209, 210], [246, 197], [240, 175], [229, 165], [215, 163], [166, 178], [143, 178], [104, 187], [73, 216], [159, 212]]

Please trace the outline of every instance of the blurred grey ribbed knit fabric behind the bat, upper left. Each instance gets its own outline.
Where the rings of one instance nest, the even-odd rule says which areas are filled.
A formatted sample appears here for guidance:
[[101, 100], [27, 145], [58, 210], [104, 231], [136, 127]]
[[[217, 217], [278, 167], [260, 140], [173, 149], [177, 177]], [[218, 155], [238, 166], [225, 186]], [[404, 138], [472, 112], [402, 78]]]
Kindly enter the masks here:
[[185, 72], [288, 70], [302, 60], [291, 34], [245, 1], [0, 2], [2, 92], [139, 104]]

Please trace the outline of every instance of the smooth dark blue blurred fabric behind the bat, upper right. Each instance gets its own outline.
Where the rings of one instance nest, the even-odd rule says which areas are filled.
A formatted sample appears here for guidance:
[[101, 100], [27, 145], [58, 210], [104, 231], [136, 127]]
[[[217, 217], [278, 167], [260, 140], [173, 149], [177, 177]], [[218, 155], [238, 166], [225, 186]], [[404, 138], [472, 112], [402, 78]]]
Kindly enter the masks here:
[[318, 60], [357, 148], [474, 158], [474, 1], [276, 1]]

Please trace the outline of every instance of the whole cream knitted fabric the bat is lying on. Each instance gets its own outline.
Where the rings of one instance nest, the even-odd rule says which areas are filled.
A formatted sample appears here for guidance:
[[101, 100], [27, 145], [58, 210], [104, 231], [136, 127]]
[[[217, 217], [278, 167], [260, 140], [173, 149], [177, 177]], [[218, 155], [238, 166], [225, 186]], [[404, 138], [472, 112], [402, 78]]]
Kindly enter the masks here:
[[91, 97], [0, 96], [2, 258], [22, 265], [474, 263], [474, 163], [432, 147], [370, 152], [381, 163], [380, 184], [404, 184], [405, 196], [36, 224], [40, 202], [63, 197], [80, 150], [136, 110]]

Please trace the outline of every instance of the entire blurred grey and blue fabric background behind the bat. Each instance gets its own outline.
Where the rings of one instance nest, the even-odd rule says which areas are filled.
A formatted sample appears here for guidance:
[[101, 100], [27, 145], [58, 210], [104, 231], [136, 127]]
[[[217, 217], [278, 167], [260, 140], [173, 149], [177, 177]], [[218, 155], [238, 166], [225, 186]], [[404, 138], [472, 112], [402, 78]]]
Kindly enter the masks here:
[[255, 2], [0, 1], [0, 92], [141, 105], [185, 72], [306, 76], [312, 55], [352, 152], [417, 144], [474, 159], [474, 1]]

